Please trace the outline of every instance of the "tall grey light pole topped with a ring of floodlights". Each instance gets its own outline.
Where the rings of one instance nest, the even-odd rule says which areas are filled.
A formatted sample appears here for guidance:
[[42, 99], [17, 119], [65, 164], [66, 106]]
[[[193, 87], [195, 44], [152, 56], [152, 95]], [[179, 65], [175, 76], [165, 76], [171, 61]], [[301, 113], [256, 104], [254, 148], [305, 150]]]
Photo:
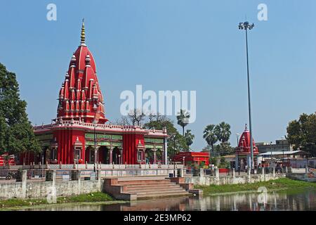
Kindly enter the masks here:
[[239, 30], [246, 31], [246, 60], [247, 60], [247, 80], [248, 80], [248, 109], [249, 109], [249, 131], [250, 131], [250, 150], [251, 150], [251, 163], [250, 169], [254, 168], [254, 143], [252, 139], [252, 127], [251, 127], [251, 101], [250, 101], [250, 79], [249, 79], [249, 59], [248, 59], [248, 30], [254, 28], [249, 22], [239, 23]]

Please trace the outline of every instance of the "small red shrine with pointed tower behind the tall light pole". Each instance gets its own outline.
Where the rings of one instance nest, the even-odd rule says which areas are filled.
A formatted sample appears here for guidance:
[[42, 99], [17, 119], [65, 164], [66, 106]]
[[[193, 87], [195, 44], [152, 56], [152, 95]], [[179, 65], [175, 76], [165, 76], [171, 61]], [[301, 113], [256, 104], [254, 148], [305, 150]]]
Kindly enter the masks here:
[[[251, 147], [250, 147], [250, 131], [247, 128], [247, 125], [240, 136], [238, 147], [236, 149], [236, 168], [240, 166], [240, 169], [244, 170], [246, 167], [251, 165]], [[257, 165], [256, 156], [259, 154], [258, 148], [254, 139], [252, 139], [253, 149], [254, 149], [254, 165]]]

